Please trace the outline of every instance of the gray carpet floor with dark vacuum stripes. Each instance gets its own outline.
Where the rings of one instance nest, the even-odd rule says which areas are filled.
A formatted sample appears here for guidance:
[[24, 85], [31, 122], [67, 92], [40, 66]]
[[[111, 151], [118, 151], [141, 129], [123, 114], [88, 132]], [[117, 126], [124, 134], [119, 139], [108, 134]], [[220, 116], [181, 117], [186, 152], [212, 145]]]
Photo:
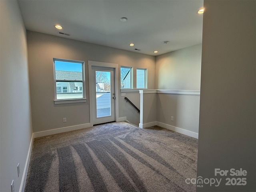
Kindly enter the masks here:
[[195, 192], [197, 139], [127, 122], [34, 139], [25, 192]]

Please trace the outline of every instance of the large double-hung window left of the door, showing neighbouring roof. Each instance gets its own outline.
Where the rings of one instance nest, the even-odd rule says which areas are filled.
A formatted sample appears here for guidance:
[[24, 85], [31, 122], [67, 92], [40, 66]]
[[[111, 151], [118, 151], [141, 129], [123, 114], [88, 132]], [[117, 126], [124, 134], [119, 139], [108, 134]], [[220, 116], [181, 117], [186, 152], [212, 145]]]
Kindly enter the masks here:
[[53, 59], [55, 99], [70, 100], [85, 98], [84, 62]]

